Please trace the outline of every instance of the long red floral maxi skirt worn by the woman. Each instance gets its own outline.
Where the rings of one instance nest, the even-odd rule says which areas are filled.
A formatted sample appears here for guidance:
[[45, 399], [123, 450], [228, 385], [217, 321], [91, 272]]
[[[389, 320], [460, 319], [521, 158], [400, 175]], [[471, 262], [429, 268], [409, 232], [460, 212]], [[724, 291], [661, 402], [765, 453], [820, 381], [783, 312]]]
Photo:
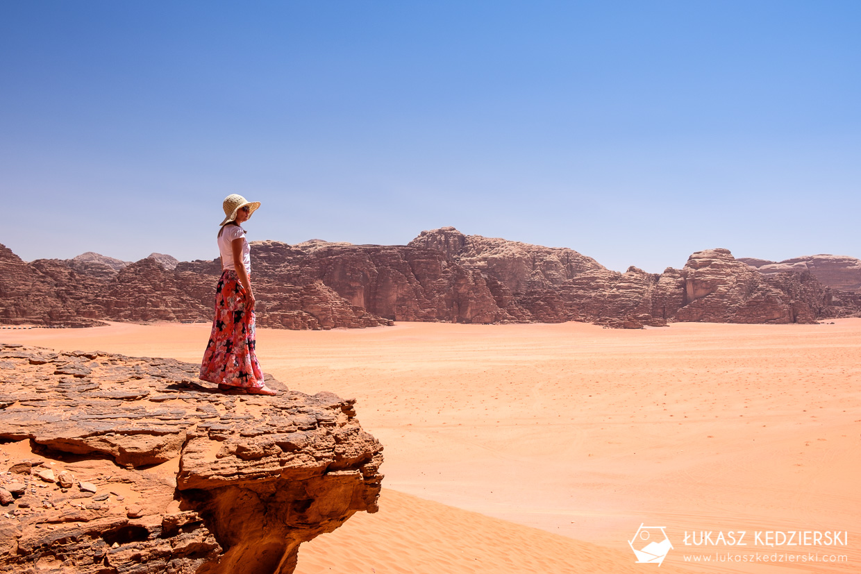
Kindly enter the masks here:
[[245, 309], [245, 287], [225, 269], [215, 287], [215, 317], [201, 363], [201, 380], [240, 388], [263, 387], [254, 351], [254, 311]]

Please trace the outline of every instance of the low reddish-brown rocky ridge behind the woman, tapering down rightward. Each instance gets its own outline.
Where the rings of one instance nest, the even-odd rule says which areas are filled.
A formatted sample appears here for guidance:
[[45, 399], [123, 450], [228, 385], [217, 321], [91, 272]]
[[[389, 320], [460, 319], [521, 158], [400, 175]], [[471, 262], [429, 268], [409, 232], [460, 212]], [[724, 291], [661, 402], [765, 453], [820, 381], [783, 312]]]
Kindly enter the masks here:
[[[102, 324], [100, 319], [212, 320], [215, 284], [221, 273], [219, 260], [178, 263], [171, 256], [154, 253], [139, 262], [112, 263], [120, 269], [115, 271], [108, 263], [118, 260], [97, 254], [79, 257], [26, 263], [0, 245], [0, 323], [75, 327]], [[255, 292], [260, 299], [257, 321], [264, 327], [331, 329], [392, 324], [350, 305], [321, 281], [297, 286], [263, 278], [257, 281], [255, 277]]]

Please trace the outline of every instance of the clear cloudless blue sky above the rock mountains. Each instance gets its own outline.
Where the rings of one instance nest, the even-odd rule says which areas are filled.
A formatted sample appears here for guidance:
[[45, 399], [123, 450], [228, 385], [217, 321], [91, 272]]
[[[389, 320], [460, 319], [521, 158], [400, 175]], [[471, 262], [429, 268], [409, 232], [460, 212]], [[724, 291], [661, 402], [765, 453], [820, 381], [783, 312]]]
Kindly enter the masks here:
[[0, 1], [25, 260], [468, 234], [861, 257], [861, 3]]

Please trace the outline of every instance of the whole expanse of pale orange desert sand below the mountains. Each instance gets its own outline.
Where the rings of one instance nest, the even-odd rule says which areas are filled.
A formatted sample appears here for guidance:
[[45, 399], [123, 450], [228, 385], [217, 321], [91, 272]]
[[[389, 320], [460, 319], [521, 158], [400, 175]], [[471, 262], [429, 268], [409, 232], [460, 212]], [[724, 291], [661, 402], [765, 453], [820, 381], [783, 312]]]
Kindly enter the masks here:
[[[208, 332], [0, 341], [200, 361]], [[381, 511], [302, 546], [298, 572], [651, 571], [626, 542], [641, 523], [672, 540], [661, 572], [861, 571], [861, 319], [258, 330], [257, 349], [291, 388], [356, 397], [386, 447]], [[684, 563], [715, 553], [684, 546], [702, 530], [848, 531], [813, 550], [846, 562]]]

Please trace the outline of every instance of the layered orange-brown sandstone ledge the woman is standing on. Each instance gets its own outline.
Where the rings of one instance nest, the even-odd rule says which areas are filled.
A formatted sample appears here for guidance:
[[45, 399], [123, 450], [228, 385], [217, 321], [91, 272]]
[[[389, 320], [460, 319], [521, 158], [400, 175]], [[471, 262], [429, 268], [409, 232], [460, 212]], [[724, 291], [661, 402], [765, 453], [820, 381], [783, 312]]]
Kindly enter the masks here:
[[197, 368], [0, 344], [0, 571], [288, 573], [376, 511], [354, 400], [223, 394]]

